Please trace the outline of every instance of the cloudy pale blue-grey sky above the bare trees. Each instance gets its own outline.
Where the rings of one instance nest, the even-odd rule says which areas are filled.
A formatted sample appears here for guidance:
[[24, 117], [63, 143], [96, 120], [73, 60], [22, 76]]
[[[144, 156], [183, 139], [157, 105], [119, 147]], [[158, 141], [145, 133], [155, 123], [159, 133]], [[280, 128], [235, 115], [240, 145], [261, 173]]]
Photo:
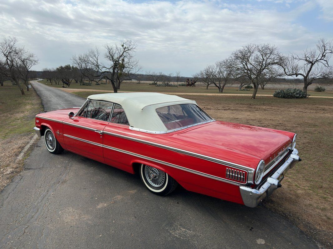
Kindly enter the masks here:
[[246, 43], [297, 52], [333, 39], [333, 0], [0, 0], [0, 39], [6, 36], [39, 57], [35, 70], [133, 39], [143, 72], [190, 76]]

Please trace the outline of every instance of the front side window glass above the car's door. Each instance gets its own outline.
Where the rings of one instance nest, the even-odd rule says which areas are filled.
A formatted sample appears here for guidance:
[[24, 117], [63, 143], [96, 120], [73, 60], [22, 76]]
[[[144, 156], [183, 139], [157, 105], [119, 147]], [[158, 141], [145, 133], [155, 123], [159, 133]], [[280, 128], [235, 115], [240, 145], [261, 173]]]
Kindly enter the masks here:
[[109, 102], [91, 100], [86, 111], [86, 118], [109, 121], [112, 106], [113, 104]]

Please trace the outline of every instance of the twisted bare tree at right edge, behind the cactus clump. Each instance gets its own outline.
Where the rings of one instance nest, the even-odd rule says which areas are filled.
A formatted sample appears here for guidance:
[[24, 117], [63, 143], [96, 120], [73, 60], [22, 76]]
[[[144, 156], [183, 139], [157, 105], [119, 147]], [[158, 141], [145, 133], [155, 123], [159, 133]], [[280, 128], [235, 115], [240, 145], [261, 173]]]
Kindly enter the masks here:
[[332, 53], [332, 41], [321, 38], [316, 48], [306, 49], [300, 55], [292, 53], [281, 56], [280, 65], [287, 76], [303, 77], [303, 91], [307, 93], [308, 86], [315, 80], [332, 77], [332, 67], [329, 65]]

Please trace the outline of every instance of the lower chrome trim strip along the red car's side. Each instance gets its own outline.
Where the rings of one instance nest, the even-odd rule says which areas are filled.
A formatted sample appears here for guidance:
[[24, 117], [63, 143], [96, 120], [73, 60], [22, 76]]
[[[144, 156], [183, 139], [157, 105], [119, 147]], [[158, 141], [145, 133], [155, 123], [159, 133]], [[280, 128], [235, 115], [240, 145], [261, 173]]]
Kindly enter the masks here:
[[239, 183], [236, 183], [236, 182], [232, 182], [232, 181], [223, 179], [223, 178], [218, 177], [218, 176], [209, 175], [209, 174], [206, 174], [206, 173], [203, 173], [203, 172], [200, 172], [200, 171], [196, 171], [196, 170], [188, 169], [188, 168], [185, 168], [185, 167], [182, 167], [182, 166], [179, 166], [179, 165], [167, 163], [165, 161], [154, 159], [154, 158], [151, 158], [151, 157], [148, 157], [148, 156], [143, 156], [143, 155], [140, 155], [140, 154], [137, 154], [137, 153], [129, 152], [127, 150], [122, 150], [122, 149], [118, 149], [118, 148], [115, 148], [115, 147], [103, 145], [103, 144], [100, 144], [100, 143], [95, 143], [95, 142], [92, 142], [92, 141], [88, 141], [88, 140], [78, 138], [78, 137], [75, 137], [75, 136], [71, 136], [71, 135], [67, 135], [67, 134], [64, 134], [64, 136], [67, 136], [67, 137], [70, 137], [70, 138], [73, 138], [73, 139], [77, 139], [77, 140], [82, 141], [82, 142], [87, 142], [87, 143], [90, 143], [90, 144], [93, 144], [93, 145], [96, 145], [96, 146], [100, 146], [100, 147], [103, 147], [103, 148], [106, 148], [106, 149], [110, 149], [110, 150], [122, 152], [122, 153], [125, 153], [125, 154], [128, 154], [128, 155], [132, 155], [132, 156], [140, 157], [140, 158], [143, 158], [143, 159], [147, 159], [147, 160], [150, 160], [152, 162], [161, 163], [161, 164], [164, 164], [166, 166], [170, 166], [170, 167], [173, 167], [173, 168], [176, 168], [176, 169], [184, 170], [184, 171], [196, 174], [196, 175], [208, 177], [208, 178], [211, 178], [211, 179], [214, 179], [214, 180], [217, 180], [217, 181], [227, 182], [227, 183], [237, 185], [237, 186], [242, 185], [242, 184], [239, 184]]

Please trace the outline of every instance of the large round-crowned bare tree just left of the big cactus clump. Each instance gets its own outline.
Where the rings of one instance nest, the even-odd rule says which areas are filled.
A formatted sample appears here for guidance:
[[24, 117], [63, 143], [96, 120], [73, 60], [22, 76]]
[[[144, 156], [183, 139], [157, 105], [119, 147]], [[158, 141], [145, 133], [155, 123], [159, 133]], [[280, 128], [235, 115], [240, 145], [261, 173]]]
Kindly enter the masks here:
[[260, 85], [260, 78], [267, 71], [278, 70], [280, 56], [278, 48], [274, 45], [251, 43], [232, 52], [227, 59], [226, 67], [237, 77], [245, 77], [253, 84], [252, 99], [255, 99]]

